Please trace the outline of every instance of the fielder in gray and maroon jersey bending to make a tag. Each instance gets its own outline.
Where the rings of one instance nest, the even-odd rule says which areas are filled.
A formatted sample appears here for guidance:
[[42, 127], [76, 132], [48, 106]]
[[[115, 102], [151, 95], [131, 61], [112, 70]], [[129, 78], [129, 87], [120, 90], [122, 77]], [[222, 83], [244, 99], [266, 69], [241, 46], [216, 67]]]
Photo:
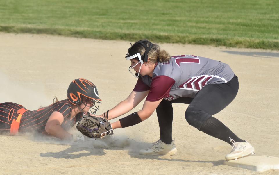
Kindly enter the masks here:
[[[119, 117], [137, 106], [146, 96], [142, 110], [112, 123], [112, 128], [138, 124], [156, 110], [160, 139], [146, 150], [145, 155], [176, 153], [172, 140], [172, 103], [189, 104], [186, 121], [204, 133], [232, 145], [226, 160], [254, 154], [246, 140], [235, 135], [212, 115], [224, 109], [236, 96], [238, 78], [225, 63], [194, 55], [169, 56], [157, 44], [140, 40], [128, 49], [126, 59], [139, 78], [129, 97], [109, 110], [108, 119]], [[98, 116], [104, 117], [104, 116]]]

